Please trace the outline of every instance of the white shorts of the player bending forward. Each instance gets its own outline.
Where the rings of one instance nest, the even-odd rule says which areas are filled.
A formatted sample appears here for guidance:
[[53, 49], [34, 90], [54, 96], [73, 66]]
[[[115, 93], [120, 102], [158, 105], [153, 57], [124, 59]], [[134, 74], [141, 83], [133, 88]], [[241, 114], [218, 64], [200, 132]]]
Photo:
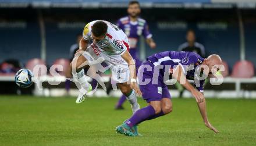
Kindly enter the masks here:
[[[88, 47], [86, 52], [83, 53], [84, 58], [93, 61], [99, 57], [104, 58], [106, 65], [110, 66], [112, 72], [112, 79], [117, 83], [126, 83], [129, 81], [130, 70], [127, 62], [120, 55], [106, 55], [102, 52], [94, 52], [92, 47]], [[96, 65], [97, 69], [103, 67], [102, 65]], [[104, 68], [104, 67], [103, 67]], [[99, 70], [100, 71], [100, 70]]]

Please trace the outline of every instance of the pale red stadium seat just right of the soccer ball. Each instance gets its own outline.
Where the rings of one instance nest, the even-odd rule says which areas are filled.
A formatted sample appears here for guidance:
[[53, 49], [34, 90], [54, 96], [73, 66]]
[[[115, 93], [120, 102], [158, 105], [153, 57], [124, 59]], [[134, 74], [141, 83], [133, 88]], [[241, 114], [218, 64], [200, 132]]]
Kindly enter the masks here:
[[[44, 70], [44, 72], [42, 72], [42, 74], [41, 74], [41, 70], [39, 70], [38, 74], [41, 74], [41, 76], [44, 76], [44, 75], [47, 74], [47, 66], [46, 66], [45, 61], [42, 60], [42, 59], [38, 59], [38, 58], [30, 59], [30, 60], [27, 62], [27, 64], [26, 64], [26, 68], [29, 69], [29, 70], [31, 70], [31, 71], [33, 72], [34, 67], [35, 67], [36, 65], [45, 65], [45, 69], [46, 69], [46, 70]], [[34, 72], [33, 72], [33, 73], [34, 73]], [[36, 74], [34, 73], [34, 75], [36, 75]]]

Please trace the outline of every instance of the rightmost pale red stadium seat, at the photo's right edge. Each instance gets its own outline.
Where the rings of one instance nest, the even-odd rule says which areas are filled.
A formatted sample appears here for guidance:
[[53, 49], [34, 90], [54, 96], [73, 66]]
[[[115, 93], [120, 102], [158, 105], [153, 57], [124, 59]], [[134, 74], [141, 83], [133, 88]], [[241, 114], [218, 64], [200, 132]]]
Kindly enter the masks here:
[[253, 63], [248, 60], [238, 61], [233, 66], [232, 77], [251, 78], [254, 76]]

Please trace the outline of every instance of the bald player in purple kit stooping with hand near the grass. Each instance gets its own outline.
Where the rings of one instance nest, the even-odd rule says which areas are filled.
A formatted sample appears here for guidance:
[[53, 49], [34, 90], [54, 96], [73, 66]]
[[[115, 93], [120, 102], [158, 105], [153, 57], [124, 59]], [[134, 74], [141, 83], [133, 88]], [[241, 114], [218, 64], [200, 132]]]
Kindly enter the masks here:
[[[202, 58], [194, 52], [166, 51], [149, 56], [147, 61], [140, 66], [138, 72], [140, 89], [143, 93], [143, 99], [148, 102], [148, 106], [136, 111], [130, 119], [116, 127], [116, 131], [126, 136], [138, 136], [137, 124], [172, 112], [170, 93], [165, 84], [166, 80], [169, 80], [169, 76], [172, 76], [190, 91], [197, 101], [205, 126], [218, 133], [218, 130], [209, 123], [206, 102], [204, 94], [202, 94], [204, 80], [198, 80], [198, 77], [208, 74], [205, 73], [207, 69], [202, 66], [208, 66], [209, 70], [214, 70], [209, 71], [209, 74], [216, 74], [219, 67], [215, 65], [221, 64], [222, 60], [219, 55]], [[144, 83], [146, 80], [148, 84]], [[195, 87], [188, 80], [194, 80]]]

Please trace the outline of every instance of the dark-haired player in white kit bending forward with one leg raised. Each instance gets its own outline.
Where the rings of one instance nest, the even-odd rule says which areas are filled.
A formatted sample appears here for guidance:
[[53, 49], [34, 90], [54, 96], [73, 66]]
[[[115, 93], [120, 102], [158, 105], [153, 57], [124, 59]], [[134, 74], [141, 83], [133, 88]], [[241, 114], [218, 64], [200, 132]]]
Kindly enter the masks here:
[[[83, 38], [80, 40], [79, 50], [75, 55], [77, 57], [70, 64], [74, 80], [77, 80], [81, 86], [79, 97], [76, 100], [77, 104], [83, 102], [86, 94], [91, 90], [91, 85], [86, 80], [83, 67], [80, 65], [103, 58], [104, 62], [111, 66], [112, 79], [126, 95], [133, 113], [140, 109], [136, 93], [141, 95], [141, 91], [136, 83], [135, 62], [129, 49], [126, 34], [112, 23], [95, 20], [84, 27]], [[89, 52], [91, 56], [84, 51]]]

